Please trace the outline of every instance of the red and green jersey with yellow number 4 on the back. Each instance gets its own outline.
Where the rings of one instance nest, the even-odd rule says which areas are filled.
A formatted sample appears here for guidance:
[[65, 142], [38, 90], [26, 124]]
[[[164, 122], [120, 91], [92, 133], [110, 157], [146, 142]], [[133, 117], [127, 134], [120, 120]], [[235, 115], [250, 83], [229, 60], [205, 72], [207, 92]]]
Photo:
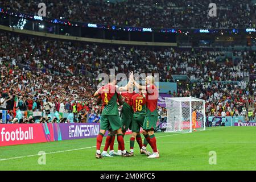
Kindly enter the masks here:
[[118, 115], [117, 100], [121, 99], [120, 94], [115, 91], [115, 86], [107, 84], [99, 90], [104, 105], [101, 115]]

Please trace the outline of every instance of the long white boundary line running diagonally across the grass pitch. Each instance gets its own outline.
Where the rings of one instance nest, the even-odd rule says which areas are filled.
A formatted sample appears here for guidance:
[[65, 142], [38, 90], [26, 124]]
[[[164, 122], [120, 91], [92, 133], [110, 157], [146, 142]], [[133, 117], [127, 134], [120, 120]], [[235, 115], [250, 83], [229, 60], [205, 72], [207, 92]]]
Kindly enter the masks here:
[[[226, 127], [217, 127], [214, 129], [208, 129], [208, 130], [204, 130], [204, 131], [209, 131], [209, 130], [217, 130], [217, 129], [224, 129], [230, 126], [226, 126]], [[199, 131], [197, 131], [199, 132]], [[156, 138], [162, 138], [162, 137], [171, 137], [171, 136], [175, 136], [175, 135], [182, 135], [182, 134], [188, 134], [188, 133], [178, 133], [178, 134], [173, 134], [173, 135], [165, 135], [165, 136], [160, 136], [160, 137], [156, 137]], [[125, 143], [130, 142], [130, 141], [126, 141]], [[118, 144], [118, 143], [114, 143], [114, 144]], [[63, 150], [63, 151], [56, 151], [56, 152], [48, 152], [47, 154], [56, 154], [56, 153], [62, 153], [62, 152], [69, 152], [69, 151], [76, 151], [76, 150], [84, 150], [84, 149], [88, 149], [88, 148], [94, 148], [96, 146], [92, 146], [92, 147], [84, 147], [84, 148], [75, 148], [75, 149], [71, 149], [71, 150]], [[4, 160], [11, 160], [11, 159], [21, 159], [21, 158], [29, 158], [32, 156], [40, 156], [38, 154], [34, 154], [34, 155], [27, 155], [27, 156], [17, 156], [14, 158], [7, 158], [7, 159], [0, 159], [0, 161], [4, 161]]]

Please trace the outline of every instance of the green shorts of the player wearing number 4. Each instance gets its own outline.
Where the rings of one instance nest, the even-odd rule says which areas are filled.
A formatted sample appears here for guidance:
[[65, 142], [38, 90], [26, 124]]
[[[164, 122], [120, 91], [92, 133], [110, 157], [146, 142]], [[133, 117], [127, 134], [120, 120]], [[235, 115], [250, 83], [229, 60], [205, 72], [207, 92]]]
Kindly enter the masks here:
[[101, 115], [101, 130], [109, 130], [113, 131], [121, 129], [121, 120], [119, 115]]

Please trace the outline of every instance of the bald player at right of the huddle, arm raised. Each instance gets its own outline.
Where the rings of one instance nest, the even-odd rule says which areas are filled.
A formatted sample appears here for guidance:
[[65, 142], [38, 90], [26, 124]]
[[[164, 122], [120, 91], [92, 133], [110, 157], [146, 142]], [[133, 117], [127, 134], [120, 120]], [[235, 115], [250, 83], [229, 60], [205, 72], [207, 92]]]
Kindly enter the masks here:
[[155, 86], [155, 78], [152, 76], [147, 76], [146, 86], [139, 85], [134, 81], [134, 85], [138, 89], [142, 89], [143, 92], [146, 92], [146, 117], [143, 122], [143, 135], [147, 139], [147, 142], [150, 144], [153, 153], [148, 156], [148, 158], [159, 158], [159, 151], [156, 147], [156, 138], [154, 135], [154, 130], [156, 127], [156, 122], [158, 121], [158, 88]]

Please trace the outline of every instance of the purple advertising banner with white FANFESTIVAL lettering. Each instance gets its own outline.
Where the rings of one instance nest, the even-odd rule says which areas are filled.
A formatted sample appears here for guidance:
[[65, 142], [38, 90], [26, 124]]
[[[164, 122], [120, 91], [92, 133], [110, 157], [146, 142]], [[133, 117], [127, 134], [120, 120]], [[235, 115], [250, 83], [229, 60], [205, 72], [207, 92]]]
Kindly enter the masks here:
[[94, 138], [100, 132], [100, 123], [59, 123], [61, 139]]

